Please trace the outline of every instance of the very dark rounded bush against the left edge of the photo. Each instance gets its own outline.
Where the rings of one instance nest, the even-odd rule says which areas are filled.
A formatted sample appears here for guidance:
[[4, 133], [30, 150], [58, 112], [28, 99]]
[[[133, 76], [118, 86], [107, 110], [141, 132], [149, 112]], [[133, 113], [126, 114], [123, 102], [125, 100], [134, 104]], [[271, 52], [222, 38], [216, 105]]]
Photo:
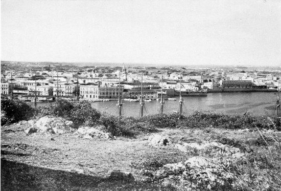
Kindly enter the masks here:
[[34, 109], [27, 103], [16, 99], [1, 99], [1, 125], [28, 120]]

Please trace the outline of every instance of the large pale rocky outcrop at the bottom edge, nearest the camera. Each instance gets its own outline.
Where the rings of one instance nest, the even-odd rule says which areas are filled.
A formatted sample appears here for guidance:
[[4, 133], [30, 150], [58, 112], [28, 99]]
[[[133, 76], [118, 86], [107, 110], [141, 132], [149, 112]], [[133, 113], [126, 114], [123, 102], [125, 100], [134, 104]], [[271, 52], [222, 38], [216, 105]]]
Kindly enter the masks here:
[[[175, 187], [200, 190], [208, 187], [231, 187], [233, 177], [225, 170], [225, 164], [215, 159], [192, 157], [185, 162], [166, 164], [154, 173], [155, 180]], [[202, 186], [202, 187], [201, 187]]]

